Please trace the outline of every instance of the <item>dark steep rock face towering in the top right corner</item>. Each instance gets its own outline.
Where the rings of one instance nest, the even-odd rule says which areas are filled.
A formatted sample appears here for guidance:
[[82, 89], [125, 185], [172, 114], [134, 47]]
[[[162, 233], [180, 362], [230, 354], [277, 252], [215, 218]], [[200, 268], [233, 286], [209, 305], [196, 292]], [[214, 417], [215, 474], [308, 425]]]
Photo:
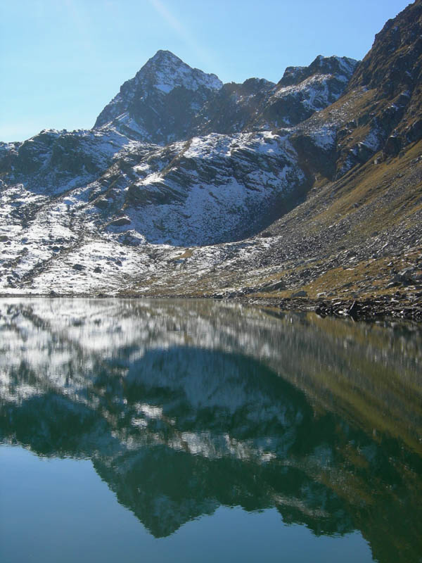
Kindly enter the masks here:
[[422, 137], [422, 3], [416, 0], [376, 34], [347, 92], [371, 92], [358, 126], [377, 131], [386, 156]]

